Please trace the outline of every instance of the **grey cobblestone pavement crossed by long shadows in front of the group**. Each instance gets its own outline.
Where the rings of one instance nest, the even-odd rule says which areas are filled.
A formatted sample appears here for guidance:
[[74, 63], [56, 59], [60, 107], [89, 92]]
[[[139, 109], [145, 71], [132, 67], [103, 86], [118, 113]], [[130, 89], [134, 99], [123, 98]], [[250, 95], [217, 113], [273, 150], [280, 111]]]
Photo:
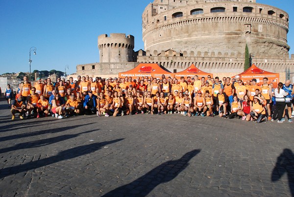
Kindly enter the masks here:
[[0, 102], [5, 197], [293, 196], [293, 150], [288, 122], [180, 114], [11, 121]]

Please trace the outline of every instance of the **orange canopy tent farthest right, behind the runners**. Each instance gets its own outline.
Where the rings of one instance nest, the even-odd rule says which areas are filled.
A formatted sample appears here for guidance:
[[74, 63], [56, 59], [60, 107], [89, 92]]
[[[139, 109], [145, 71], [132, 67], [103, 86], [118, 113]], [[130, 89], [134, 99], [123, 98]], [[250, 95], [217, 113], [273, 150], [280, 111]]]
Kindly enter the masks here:
[[[247, 70], [239, 74], [240, 79], [246, 84], [246, 80], [256, 79], [257, 85], [262, 85], [263, 78], [267, 77], [269, 79], [268, 84], [272, 83], [273, 87], [276, 88], [278, 86], [279, 80], [280, 80], [280, 74], [274, 73], [274, 72], [268, 72], [263, 69], [258, 68], [254, 64], [252, 64], [251, 67], [249, 67]], [[232, 78], [235, 78], [233, 76]]]

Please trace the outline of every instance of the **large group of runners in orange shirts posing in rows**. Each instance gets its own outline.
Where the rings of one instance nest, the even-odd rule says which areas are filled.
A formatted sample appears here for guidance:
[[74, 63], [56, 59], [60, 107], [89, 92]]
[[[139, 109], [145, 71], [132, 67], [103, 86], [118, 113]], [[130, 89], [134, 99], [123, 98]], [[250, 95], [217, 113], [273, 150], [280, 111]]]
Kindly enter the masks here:
[[23, 119], [52, 115], [64, 118], [75, 115], [123, 116], [137, 113], [175, 114], [184, 116], [219, 116], [238, 118], [257, 123], [268, 120], [282, 123], [285, 117], [293, 122], [293, 85], [290, 80], [279, 83], [277, 88], [263, 78], [245, 83], [236, 76], [212, 78], [164, 75], [153, 77], [92, 78], [78, 76], [76, 81], [58, 78], [31, 84], [27, 77], [19, 85], [16, 95], [7, 85], [4, 92], [12, 120], [15, 114]]

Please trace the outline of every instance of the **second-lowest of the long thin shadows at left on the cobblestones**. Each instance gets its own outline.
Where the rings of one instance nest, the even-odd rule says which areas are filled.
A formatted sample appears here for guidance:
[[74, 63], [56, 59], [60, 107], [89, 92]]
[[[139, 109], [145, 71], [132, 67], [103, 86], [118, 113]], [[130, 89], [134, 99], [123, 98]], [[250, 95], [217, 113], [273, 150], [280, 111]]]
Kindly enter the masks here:
[[7, 147], [4, 149], [0, 149], [0, 153], [6, 153], [9, 151], [16, 151], [16, 150], [20, 150], [20, 149], [29, 149], [29, 148], [36, 148], [36, 147], [41, 147], [41, 146], [46, 146], [49, 144], [54, 144], [60, 141], [64, 141], [67, 139], [71, 139], [73, 137], [77, 137], [81, 134], [84, 133], [89, 133], [89, 132], [93, 132], [93, 131], [98, 131], [97, 130], [91, 130], [91, 131], [85, 131], [85, 132], [81, 132], [81, 133], [77, 133], [77, 134], [69, 134], [69, 135], [60, 135], [57, 137], [51, 137], [48, 139], [41, 139], [41, 140], [36, 140], [36, 141], [32, 141], [32, 142], [25, 142], [25, 143], [20, 143], [20, 144], [16, 144], [15, 146], [12, 147]]

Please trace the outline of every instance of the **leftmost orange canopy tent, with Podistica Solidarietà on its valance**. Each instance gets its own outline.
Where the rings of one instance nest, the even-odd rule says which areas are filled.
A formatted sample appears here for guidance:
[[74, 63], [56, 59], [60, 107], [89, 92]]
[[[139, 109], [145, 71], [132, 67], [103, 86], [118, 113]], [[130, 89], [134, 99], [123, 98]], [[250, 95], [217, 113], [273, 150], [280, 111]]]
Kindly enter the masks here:
[[141, 63], [133, 69], [120, 72], [119, 77], [154, 77], [161, 78], [162, 75], [165, 75], [166, 78], [173, 77], [172, 72], [168, 72], [162, 69], [158, 64], [150, 63]]

